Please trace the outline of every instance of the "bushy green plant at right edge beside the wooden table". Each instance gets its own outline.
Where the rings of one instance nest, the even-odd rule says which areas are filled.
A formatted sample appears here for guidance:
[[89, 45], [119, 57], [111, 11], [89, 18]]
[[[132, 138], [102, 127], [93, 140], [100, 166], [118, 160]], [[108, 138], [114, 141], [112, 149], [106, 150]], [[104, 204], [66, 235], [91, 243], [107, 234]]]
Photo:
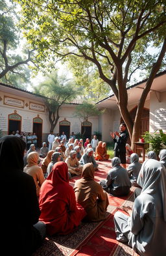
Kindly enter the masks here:
[[165, 144], [165, 134], [160, 130], [160, 133], [154, 132], [154, 134], [150, 134], [150, 132], [145, 132], [145, 135], [142, 136], [145, 139], [146, 143], [149, 143], [148, 151], [153, 150], [158, 155], [161, 149], [164, 149]]

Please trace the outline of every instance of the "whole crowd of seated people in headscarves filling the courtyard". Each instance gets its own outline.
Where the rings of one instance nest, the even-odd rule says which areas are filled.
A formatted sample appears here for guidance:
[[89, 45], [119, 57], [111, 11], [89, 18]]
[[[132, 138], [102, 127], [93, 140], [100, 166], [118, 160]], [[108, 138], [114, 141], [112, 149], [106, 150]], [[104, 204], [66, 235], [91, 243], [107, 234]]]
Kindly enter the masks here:
[[[155, 152], [148, 152], [142, 165], [139, 156], [132, 153], [127, 169], [121, 166], [118, 157], [114, 157], [106, 180], [96, 182], [97, 161], [109, 158], [106, 143], [99, 141], [94, 152], [94, 147], [88, 146], [90, 140], [86, 139], [87, 149], [84, 152], [81, 151], [83, 141], [71, 137], [66, 155], [65, 137], [60, 139], [62, 141], [57, 143], [57, 147], [53, 143], [52, 150], [43, 143], [40, 154], [36, 152], [35, 145], [30, 145], [25, 165], [23, 154], [26, 144], [23, 139], [13, 135], [0, 138], [1, 174], [8, 180], [8, 193], [12, 197], [10, 206], [6, 200], [2, 202], [3, 220], [8, 220], [5, 221], [3, 235], [7, 235], [6, 231], [10, 229], [14, 236], [19, 237], [19, 246], [18, 237], [13, 238], [10, 254], [30, 256], [41, 246], [46, 235], [67, 235], [80, 225], [80, 221], [105, 220], [108, 195], [126, 196], [134, 186], [133, 208], [124, 206], [122, 210], [128, 215], [117, 211], [114, 216], [117, 240], [128, 243], [141, 256], [164, 256], [166, 150], [160, 151], [160, 161]], [[8, 154], [12, 159], [6, 165]], [[39, 157], [41, 167], [38, 165]], [[73, 175], [80, 175], [74, 188], [69, 184]], [[9, 212], [11, 221], [7, 219]]]

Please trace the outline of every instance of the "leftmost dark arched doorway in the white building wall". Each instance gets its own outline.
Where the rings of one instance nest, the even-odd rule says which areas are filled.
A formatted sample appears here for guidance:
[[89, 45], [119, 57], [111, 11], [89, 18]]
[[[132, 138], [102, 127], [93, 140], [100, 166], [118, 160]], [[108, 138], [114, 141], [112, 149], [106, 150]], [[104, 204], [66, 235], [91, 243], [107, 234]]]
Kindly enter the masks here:
[[18, 115], [17, 111], [14, 111], [14, 113], [8, 115], [8, 134], [17, 130], [21, 132], [21, 115]]

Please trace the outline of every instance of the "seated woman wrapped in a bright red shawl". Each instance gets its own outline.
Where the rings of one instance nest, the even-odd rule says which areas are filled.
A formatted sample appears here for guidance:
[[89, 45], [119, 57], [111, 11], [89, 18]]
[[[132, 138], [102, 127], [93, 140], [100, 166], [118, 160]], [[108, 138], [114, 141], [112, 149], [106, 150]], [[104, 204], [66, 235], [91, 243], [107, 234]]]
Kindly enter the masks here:
[[39, 203], [40, 220], [46, 224], [49, 235], [71, 233], [86, 216], [84, 208], [76, 203], [64, 162], [54, 164], [53, 171], [43, 182]]

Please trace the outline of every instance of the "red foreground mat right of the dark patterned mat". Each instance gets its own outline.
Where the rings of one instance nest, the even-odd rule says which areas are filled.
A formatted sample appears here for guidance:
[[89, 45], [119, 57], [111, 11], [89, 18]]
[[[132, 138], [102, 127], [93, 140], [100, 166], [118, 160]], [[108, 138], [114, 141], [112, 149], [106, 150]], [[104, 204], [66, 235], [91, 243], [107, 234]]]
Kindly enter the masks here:
[[[119, 199], [119, 203], [121, 203], [121, 205], [117, 202], [117, 197], [111, 197], [109, 198], [109, 201], [111, 202], [112, 199], [116, 199], [115, 203], [117, 203], [118, 206], [125, 205], [132, 207], [134, 202], [135, 188], [132, 187], [130, 190], [132, 193], [130, 193], [128, 198], [125, 199], [123, 203], [121, 203]], [[102, 227], [97, 230], [97, 232], [88, 240], [88, 242], [81, 246], [78, 253], [75, 253], [75, 256], [139, 256], [132, 248], [127, 246], [127, 244], [122, 244], [116, 240], [113, 222], [113, 214], [115, 214], [116, 211], [117, 207], [115, 207], [115, 210], [113, 210], [109, 220], [105, 221]]]

